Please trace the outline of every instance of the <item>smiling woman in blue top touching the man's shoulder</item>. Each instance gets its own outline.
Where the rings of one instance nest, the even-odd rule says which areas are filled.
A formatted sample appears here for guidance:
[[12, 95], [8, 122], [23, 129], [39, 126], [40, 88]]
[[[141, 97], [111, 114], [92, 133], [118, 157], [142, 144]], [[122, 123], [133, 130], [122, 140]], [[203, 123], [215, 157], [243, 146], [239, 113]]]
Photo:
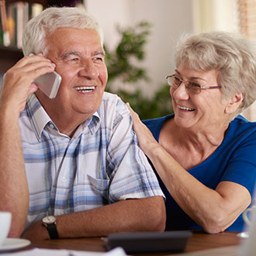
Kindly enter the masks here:
[[256, 123], [239, 114], [256, 99], [255, 45], [201, 33], [178, 43], [175, 63], [167, 76], [174, 114], [145, 126], [130, 109], [166, 196], [166, 229], [243, 230], [256, 181]]

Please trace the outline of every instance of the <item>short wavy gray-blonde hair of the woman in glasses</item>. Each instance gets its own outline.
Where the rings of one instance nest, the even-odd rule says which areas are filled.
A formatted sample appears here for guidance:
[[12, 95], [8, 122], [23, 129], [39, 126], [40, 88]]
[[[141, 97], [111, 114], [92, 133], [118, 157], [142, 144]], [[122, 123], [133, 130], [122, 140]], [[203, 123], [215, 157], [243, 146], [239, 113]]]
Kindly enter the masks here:
[[223, 99], [243, 93], [234, 119], [256, 99], [256, 43], [223, 31], [182, 36], [175, 50], [176, 67], [185, 63], [195, 71], [218, 71]]

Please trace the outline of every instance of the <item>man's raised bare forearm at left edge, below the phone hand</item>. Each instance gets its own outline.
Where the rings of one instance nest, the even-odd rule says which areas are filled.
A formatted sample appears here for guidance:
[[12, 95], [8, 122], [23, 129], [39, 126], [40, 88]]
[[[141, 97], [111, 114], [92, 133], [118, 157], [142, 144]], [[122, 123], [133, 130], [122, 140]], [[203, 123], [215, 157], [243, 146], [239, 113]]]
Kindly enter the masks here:
[[19, 237], [28, 213], [29, 192], [19, 130], [19, 113], [3, 108], [0, 112], [0, 175], [0, 211], [12, 213], [9, 237]]

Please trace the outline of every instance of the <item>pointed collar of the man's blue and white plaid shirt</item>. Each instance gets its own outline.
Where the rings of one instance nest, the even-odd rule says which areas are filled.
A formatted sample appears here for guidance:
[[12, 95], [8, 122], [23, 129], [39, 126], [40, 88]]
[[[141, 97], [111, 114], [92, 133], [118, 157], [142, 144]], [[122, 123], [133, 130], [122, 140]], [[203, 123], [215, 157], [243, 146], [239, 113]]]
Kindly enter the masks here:
[[[52, 128], [58, 130], [57, 126], [55, 126], [54, 122], [50, 119], [50, 116], [48, 116], [45, 109], [43, 109], [43, 106], [40, 104], [40, 101], [36, 98], [35, 94], [28, 97], [26, 101], [26, 111], [31, 119], [33, 129], [39, 141], [43, 133], [43, 129], [45, 126], [47, 126], [47, 124], [50, 124]], [[101, 119], [99, 117], [99, 112], [96, 111], [90, 118], [81, 123], [78, 130], [74, 133], [75, 137], [84, 132], [86, 126], [88, 126], [92, 134], [95, 134], [97, 130], [99, 130], [100, 123]]]

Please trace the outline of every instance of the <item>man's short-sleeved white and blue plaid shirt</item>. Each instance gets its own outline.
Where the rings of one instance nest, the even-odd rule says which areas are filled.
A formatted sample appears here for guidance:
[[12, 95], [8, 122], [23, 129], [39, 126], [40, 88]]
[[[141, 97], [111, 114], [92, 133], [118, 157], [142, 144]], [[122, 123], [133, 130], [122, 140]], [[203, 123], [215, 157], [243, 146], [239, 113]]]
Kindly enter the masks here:
[[36, 95], [29, 96], [19, 125], [29, 184], [26, 227], [50, 214], [164, 196], [116, 95], [105, 92], [99, 110], [71, 138], [59, 132]]

